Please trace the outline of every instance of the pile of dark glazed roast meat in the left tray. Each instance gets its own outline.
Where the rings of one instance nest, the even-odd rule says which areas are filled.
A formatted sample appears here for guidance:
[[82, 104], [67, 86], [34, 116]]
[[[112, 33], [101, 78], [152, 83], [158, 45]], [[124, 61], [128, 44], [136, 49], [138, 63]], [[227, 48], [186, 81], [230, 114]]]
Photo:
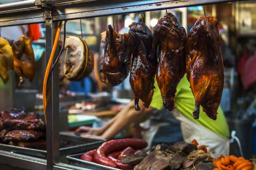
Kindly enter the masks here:
[[0, 142], [28, 148], [45, 146], [46, 125], [37, 113], [10, 109], [2, 111], [0, 116]]

